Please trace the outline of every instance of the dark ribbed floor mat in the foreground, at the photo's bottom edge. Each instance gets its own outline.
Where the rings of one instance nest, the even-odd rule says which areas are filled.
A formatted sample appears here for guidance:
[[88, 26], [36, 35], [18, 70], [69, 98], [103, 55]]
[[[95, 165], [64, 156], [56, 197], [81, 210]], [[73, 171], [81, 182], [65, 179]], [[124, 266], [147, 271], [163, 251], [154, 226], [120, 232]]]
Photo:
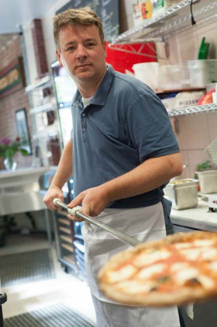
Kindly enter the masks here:
[[95, 327], [82, 314], [55, 304], [26, 314], [4, 319], [4, 327]]

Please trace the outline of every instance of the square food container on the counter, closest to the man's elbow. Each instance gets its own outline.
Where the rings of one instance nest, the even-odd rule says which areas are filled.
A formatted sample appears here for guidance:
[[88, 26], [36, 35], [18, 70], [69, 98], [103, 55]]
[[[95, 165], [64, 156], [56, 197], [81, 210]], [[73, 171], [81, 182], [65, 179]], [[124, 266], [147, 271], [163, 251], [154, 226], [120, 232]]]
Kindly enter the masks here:
[[185, 178], [170, 182], [166, 186], [169, 200], [176, 210], [189, 209], [198, 205], [198, 183], [197, 179]]

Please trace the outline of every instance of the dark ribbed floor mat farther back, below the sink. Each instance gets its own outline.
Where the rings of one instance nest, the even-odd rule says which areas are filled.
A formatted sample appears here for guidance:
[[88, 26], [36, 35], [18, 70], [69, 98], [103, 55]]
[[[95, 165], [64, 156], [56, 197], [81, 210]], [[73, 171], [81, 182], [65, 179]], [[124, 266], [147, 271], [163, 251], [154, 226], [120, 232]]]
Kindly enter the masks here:
[[50, 249], [0, 256], [1, 286], [55, 278]]

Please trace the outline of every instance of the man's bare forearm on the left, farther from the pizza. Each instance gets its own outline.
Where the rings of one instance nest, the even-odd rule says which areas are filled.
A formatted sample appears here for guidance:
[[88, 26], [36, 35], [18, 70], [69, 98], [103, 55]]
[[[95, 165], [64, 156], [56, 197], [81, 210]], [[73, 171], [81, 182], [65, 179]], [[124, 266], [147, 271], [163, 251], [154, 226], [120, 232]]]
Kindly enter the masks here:
[[71, 140], [63, 149], [62, 155], [56, 173], [52, 179], [50, 186], [62, 188], [65, 182], [72, 176], [72, 143]]

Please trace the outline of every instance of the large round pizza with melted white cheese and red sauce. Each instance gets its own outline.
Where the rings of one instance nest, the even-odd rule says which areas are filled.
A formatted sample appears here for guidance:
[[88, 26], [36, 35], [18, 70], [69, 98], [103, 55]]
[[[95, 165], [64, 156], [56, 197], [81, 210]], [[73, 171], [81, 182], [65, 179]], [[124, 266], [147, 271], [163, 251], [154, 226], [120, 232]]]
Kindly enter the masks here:
[[177, 233], [113, 256], [98, 273], [105, 295], [126, 305], [171, 306], [217, 297], [217, 233]]

